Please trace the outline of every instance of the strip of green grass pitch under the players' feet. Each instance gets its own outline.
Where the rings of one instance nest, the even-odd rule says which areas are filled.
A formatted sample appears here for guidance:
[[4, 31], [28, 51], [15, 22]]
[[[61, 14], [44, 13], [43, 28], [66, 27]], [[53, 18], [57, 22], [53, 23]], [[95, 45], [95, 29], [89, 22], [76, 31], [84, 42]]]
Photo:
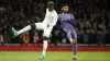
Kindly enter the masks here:
[[[72, 52], [47, 52], [44, 60], [38, 60], [41, 52], [1, 52], [0, 61], [73, 61]], [[77, 61], [110, 61], [110, 52], [78, 52]]]

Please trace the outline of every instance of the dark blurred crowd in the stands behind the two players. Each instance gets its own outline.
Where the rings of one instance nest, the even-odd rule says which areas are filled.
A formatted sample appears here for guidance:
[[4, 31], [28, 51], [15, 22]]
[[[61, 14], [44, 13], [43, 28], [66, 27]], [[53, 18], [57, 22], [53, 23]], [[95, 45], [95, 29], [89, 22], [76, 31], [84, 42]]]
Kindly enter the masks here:
[[[0, 1], [0, 40], [6, 44], [42, 42], [42, 30], [30, 30], [13, 38], [11, 27], [21, 29], [29, 24], [42, 22], [48, 0], [3, 0]], [[76, 19], [76, 32], [79, 44], [110, 44], [110, 9], [107, 0], [53, 0], [55, 10], [68, 4]], [[40, 33], [38, 33], [40, 32]], [[69, 44], [66, 34], [53, 29], [50, 42]]]

